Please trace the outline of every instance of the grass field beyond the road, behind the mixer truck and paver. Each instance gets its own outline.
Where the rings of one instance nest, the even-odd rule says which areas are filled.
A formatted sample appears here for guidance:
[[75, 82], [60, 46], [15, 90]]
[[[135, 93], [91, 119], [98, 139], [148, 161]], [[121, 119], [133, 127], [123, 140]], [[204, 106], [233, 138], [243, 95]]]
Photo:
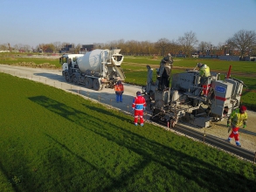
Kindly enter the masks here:
[[[156, 79], [156, 68], [159, 67], [162, 57], [132, 57], [125, 56], [121, 67], [126, 75], [126, 82], [138, 86], [145, 86], [147, 81], [147, 65], [154, 69]], [[174, 58], [172, 74], [194, 69], [198, 62], [209, 65], [211, 72], [220, 72], [222, 79], [232, 65], [232, 78], [242, 80], [245, 85], [241, 102], [248, 109], [256, 111], [256, 62], [250, 61], [225, 61], [207, 58]], [[31, 58], [27, 54], [0, 53], [0, 63], [8, 65], [31, 65], [31, 67], [59, 68], [59, 58]]]

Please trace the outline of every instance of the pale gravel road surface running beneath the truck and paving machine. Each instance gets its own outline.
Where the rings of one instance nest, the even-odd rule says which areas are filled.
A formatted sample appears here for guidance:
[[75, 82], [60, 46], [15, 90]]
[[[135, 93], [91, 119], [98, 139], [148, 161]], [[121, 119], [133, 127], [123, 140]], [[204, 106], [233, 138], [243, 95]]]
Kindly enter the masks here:
[[[100, 100], [101, 103], [106, 104], [107, 106], [111, 106], [116, 108], [117, 110], [124, 111], [125, 113], [132, 114], [131, 105], [132, 100], [135, 97], [135, 93], [137, 91], [141, 91], [140, 86], [132, 86], [128, 84], [124, 84], [124, 94], [123, 94], [123, 102], [116, 103], [115, 102], [115, 94], [113, 89], [104, 88], [102, 91], [97, 92], [91, 89], [86, 89], [84, 86], [76, 86], [70, 83], [66, 83], [66, 80], [61, 75], [60, 70], [51, 70], [51, 69], [42, 69], [42, 68], [29, 68], [22, 66], [11, 66], [11, 65], [0, 65], [0, 72], [9, 73], [11, 75], [24, 78], [31, 79], [34, 81], [38, 81], [44, 83], [49, 86], [54, 86], [56, 88], [60, 88], [66, 90], [67, 92], [81, 94], [86, 98], [91, 98], [94, 100]], [[248, 121], [246, 129], [239, 129], [239, 138], [242, 144], [242, 147], [256, 152], [256, 126], [254, 122], [256, 122], [256, 113], [247, 111], [248, 113]], [[146, 113], [147, 115], [147, 113]], [[149, 115], [147, 115], [146, 119], [149, 120]], [[183, 123], [183, 122], [179, 122]], [[186, 124], [186, 123], [184, 123]], [[188, 124], [186, 124], [188, 126]], [[254, 126], [253, 126], [254, 125]], [[211, 134], [220, 139], [227, 140], [230, 133], [228, 133], [228, 127], [226, 127], [226, 120], [222, 120], [219, 122], [211, 122], [211, 127], [200, 128], [189, 126], [191, 129], [195, 129], [202, 134]], [[227, 142], [227, 145], [230, 145]], [[232, 145], [235, 145], [234, 139], [232, 140]]]

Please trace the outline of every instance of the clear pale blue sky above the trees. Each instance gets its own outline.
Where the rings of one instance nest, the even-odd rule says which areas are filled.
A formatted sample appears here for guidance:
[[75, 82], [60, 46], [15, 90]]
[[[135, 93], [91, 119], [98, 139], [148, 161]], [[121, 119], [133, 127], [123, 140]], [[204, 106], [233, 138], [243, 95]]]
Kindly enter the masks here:
[[0, 44], [176, 40], [224, 43], [256, 32], [256, 0], [0, 0]]

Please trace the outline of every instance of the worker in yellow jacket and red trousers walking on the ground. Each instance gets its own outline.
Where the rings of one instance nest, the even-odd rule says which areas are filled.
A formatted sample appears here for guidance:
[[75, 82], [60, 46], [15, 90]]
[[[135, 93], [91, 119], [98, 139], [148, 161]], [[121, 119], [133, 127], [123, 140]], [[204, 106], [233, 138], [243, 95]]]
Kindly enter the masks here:
[[228, 137], [228, 142], [231, 142], [232, 138], [234, 137], [236, 145], [239, 147], [241, 147], [239, 142], [239, 127], [243, 126], [243, 128], [246, 128], [246, 110], [246, 106], [240, 106], [239, 110], [234, 110], [227, 120], [227, 127], [232, 127], [232, 133]]

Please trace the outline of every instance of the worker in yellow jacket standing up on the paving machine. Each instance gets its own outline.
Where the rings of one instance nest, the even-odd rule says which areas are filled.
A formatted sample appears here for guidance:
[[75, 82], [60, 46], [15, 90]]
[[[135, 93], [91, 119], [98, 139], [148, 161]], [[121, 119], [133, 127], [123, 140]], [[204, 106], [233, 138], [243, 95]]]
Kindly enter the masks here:
[[199, 76], [201, 77], [200, 85], [203, 87], [203, 96], [207, 97], [209, 88], [211, 87], [211, 82], [209, 82], [209, 77], [211, 77], [210, 67], [202, 63], [197, 63], [197, 67], [199, 69]]

